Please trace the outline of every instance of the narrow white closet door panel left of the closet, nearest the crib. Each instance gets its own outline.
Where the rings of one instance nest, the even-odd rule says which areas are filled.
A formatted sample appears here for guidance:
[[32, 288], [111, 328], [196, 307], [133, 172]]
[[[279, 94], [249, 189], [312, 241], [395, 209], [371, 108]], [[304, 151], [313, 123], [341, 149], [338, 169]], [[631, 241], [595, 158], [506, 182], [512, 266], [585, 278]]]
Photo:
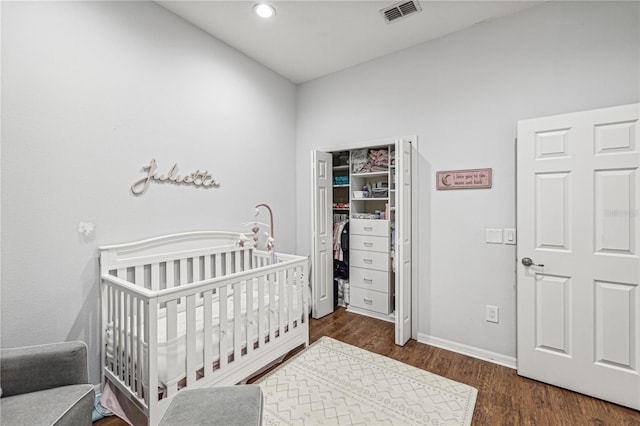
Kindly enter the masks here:
[[311, 315], [318, 319], [333, 312], [333, 159], [312, 151], [311, 164]]

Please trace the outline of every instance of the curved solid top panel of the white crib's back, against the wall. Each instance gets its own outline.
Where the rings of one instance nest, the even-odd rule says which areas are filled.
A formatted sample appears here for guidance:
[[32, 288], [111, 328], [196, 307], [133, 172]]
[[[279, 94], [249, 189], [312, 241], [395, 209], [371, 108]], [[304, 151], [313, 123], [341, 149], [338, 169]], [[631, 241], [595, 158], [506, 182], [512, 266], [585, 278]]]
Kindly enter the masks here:
[[227, 251], [238, 247], [240, 233], [228, 231], [195, 231], [163, 235], [125, 244], [102, 246], [100, 269], [112, 269], [161, 262], [168, 258], [197, 256], [208, 251]]

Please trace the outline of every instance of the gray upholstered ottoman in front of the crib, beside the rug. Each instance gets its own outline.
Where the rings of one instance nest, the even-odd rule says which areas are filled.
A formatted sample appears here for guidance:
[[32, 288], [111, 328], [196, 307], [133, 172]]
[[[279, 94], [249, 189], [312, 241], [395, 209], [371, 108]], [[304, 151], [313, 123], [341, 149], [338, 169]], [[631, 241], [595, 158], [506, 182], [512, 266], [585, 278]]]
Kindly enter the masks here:
[[261, 422], [262, 389], [237, 385], [178, 392], [159, 426], [260, 426]]

